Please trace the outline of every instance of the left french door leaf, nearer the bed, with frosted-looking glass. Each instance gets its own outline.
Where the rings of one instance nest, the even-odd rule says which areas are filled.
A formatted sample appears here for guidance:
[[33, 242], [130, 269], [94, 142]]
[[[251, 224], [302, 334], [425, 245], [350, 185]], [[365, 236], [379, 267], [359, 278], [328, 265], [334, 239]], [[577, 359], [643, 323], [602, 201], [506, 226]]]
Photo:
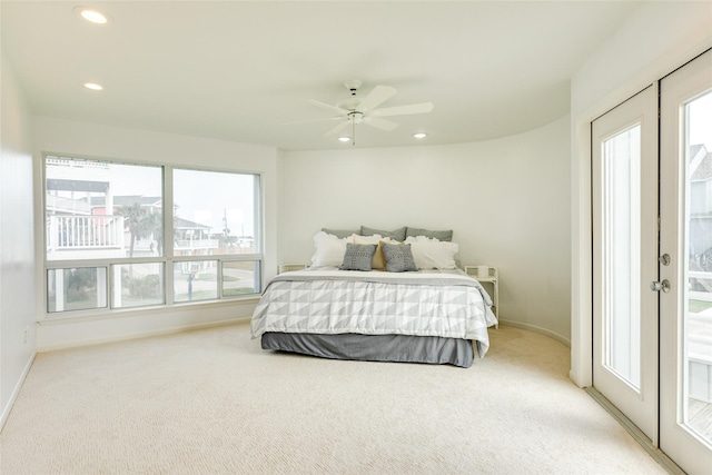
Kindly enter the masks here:
[[657, 87], [592, 123], [593, 383], [657, 441]]

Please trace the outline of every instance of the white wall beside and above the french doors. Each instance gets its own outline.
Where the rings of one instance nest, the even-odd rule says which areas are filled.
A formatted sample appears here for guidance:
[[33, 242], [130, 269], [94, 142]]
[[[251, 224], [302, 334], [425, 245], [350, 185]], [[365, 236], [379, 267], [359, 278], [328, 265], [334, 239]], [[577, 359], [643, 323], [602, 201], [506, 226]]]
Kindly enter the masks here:
[[643, 2], [572, 78], [571, 377], [591, 385], [590, 123], [712, 47], [712, 3]]

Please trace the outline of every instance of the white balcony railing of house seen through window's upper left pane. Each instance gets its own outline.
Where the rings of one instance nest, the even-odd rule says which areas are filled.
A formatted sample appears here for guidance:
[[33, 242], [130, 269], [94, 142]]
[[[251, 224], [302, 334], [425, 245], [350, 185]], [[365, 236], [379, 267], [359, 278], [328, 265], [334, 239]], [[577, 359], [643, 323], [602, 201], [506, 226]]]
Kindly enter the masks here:
[[122, 216], [48, 216], [47, 250], [122, 249]]

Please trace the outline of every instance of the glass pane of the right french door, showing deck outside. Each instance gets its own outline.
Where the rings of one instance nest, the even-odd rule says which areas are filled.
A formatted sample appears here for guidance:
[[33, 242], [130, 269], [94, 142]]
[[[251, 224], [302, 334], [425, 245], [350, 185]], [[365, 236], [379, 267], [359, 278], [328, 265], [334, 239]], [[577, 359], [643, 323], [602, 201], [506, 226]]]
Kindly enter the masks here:
[[712, 443], [712, 92], [685, 106], [685, 423]]

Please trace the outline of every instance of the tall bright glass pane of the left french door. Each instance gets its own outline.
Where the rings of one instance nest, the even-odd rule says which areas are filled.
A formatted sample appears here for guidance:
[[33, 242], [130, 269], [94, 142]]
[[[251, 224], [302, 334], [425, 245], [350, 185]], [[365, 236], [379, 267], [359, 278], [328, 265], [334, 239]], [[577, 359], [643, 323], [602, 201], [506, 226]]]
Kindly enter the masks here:
[[640, 390], [641, 126], [602, 147], [603, 365]]

